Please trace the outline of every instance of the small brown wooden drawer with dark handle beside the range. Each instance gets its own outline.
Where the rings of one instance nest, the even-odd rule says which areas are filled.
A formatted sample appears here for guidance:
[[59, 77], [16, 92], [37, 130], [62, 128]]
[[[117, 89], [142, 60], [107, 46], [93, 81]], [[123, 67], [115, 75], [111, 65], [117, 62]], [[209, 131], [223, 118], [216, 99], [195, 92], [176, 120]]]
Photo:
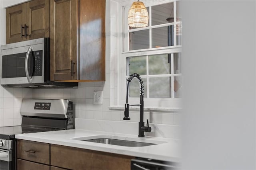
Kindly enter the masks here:
[[17, 157], [42, 164], [50, 164], [50, 144], [18, 140]]

